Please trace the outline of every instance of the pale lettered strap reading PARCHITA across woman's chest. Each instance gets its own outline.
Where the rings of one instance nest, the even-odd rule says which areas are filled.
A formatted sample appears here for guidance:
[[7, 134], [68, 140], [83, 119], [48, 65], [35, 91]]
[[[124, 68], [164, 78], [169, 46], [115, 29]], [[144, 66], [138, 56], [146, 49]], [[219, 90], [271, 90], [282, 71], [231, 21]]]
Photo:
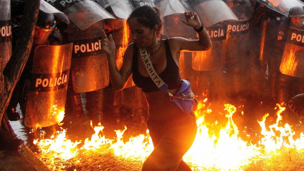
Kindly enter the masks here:
[[145, 64], [145, 69], [147, 70], [150, 78], [155, 83], [155, 85], [158, 87], [158, 89], [161, 92], [165, 92], [168, 90], [168, 85], [163, 82], [163, 80], [158, 76], [156, 71], [154, 70], [152, 63], [150, 61], [149, 55], [145, 48], [139, 48], [139, 52], [141, 54], [141, 59]]

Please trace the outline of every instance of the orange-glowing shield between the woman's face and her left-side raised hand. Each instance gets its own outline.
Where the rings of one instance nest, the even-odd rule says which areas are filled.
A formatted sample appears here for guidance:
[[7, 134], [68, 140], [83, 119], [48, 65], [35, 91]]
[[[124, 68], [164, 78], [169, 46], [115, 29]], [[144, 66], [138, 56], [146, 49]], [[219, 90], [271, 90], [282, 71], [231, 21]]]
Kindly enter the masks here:
[[[131, 40], [127, 20], [123, 20], [123, 27], [120, 27], [119, 29], [114, 29], [112, 34], [116, 46], [116, 65], [118, 70], [120, 70], [123, 64], [123, 54], [126, 51], [127, 46]], [[132, 86], [135, 86], [135, 84], [133, 83], [131, 74], [130, 79], [128, 80], [125, 88], [129, 88]]]

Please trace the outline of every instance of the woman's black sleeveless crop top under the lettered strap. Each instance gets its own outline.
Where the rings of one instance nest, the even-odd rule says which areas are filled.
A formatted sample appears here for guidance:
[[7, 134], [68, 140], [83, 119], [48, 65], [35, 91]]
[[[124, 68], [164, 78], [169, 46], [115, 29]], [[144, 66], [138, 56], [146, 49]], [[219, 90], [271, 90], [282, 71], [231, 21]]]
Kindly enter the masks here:
[[[167, 83], [168, 89], [179, 88], [181, 86], [181, 76], [179, 68], [176, 65], [168, 40], [165, 40], [167, 64], [162, 73], [157, 73], [163, 82]], [[142, 76], [138, 71], [138, 47], [136, 44], [133, 46], [133, 59], [132, 59], [132, 78], [135, 85], [142, 88], [143, 92], [159, 91], [158, 87], [150, 77]]]

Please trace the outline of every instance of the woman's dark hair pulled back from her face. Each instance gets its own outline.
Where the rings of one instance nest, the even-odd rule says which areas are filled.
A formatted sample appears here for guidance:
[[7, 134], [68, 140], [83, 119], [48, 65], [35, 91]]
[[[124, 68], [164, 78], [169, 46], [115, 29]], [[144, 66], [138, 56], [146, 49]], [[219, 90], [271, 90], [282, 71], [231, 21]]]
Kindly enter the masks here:
[[163, 16], [158, 7], [150, 7], [148, 5], [138, 7], [130, 14], [127, 21], [131, 18], [137, 18], [139, 23], [149, 29], [153, 29], [155, 25], [158, 25], [158, 35], [163, 30]]

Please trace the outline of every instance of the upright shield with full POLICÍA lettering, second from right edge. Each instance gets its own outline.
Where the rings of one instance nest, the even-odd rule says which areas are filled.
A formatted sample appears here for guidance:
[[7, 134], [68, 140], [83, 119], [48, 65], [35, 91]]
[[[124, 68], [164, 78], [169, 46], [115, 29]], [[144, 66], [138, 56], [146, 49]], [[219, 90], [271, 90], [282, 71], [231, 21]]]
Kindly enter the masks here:
[[227, 43], [225, 62], [234, 63], [244, 56], [248, 44], [248, 32], [251, 25], [253, 7], [245, 4], [235, 4], [231, 10], [239, 18], [238, 21], [227, 20]]

